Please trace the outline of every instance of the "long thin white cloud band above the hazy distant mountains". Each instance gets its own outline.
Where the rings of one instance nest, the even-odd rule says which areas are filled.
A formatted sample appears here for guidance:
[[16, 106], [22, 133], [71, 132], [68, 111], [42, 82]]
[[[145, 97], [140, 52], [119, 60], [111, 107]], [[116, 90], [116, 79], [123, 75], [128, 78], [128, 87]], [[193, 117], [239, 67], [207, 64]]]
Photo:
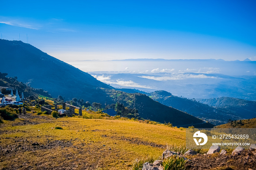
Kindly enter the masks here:
[[182, 80], [187, 78], [217, 78], [214, 76], [206, 76], [204, 74], [173, 74], [172, 76], [164, 76], [164, 77], [156, 77], [156, 76], [138, 76], [142, 78], [147, 78], [151, 80], [157, 80], [157, 81], [167, 81], [167, 80]]

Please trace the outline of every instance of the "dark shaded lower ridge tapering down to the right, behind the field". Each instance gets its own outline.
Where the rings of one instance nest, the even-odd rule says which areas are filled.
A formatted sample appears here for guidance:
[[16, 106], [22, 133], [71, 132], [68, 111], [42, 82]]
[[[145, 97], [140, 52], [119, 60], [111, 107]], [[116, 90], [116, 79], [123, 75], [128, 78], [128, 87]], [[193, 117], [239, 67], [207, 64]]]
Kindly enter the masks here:
[[113, 98], [114, 102], [124, 104], [129, 108], [138, 109], [139, 116], [144, 119], [150, 119], [161, 123], [172, 123], [178, 127], [213, 127], [213, 124], [206, 123], [188, 113], [181, 112], [172, 107], [167, 107], [159, 102], [152, 100], [150, 97], [141, 93], [125, 93], [117, 90], [106, 90]]

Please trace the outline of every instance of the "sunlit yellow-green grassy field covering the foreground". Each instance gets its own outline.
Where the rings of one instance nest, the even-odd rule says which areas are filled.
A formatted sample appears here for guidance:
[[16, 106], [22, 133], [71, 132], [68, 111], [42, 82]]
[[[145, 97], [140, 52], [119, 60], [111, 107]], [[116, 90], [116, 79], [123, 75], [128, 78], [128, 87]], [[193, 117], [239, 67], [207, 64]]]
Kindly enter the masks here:
[[174, 143], [185, 143], [185, 130], [29, 112], [0, 124], [0, 169], [131, 169], [136, 158], [161, 156]]

